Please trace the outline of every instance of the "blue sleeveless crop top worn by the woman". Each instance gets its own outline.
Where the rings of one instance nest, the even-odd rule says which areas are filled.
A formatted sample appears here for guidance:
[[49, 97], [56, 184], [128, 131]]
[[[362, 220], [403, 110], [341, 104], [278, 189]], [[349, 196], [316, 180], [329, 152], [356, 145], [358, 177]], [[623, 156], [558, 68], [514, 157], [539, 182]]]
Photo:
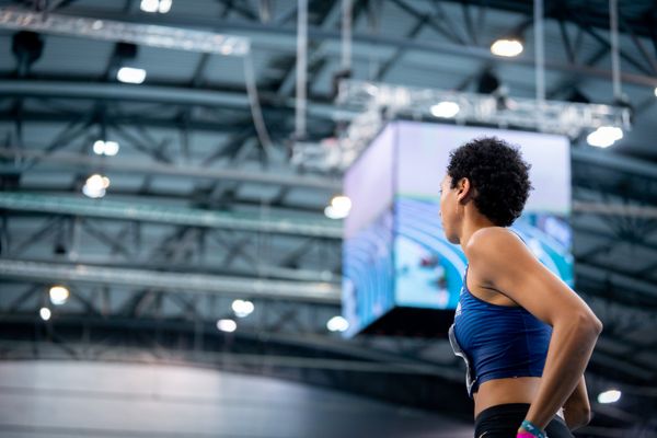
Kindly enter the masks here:
[[468, 269], [449, 330], [457, 356], [468, 366], [468, 395], [487, 380], [541, 377], [552, 327], [521, 307], [493, 304], [468, 290]]

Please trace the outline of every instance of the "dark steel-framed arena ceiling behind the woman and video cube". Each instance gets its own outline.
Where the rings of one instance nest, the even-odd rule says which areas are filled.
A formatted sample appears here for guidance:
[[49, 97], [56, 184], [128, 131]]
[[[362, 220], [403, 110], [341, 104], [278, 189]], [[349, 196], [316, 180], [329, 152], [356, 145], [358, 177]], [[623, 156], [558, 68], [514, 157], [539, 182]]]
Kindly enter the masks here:
[[[632, 130], [609, 150], [573, 139], [576, 289], [606, 326], [590, 385], [626, 394], [618, 410], [595, 406], [588, 436], [656, 427], [657, 5], [620, 3]], [[139, 348], [468, 417], [461, 365], [443, 339], [347, 343], [326, 332], [339, 312], [342, 233], [323, 209], [339, 174], [290, 162], [296, 2], [185, 0], [166, 14], [136, 0], [0, 7], [250, 38], [273, 145], [257, 136], [239, 57], [139, 46], [127, 58], [147, 79], [124, 84], [115, 76], [126, 54], [113, 42], [42, 33], [35, 51], [0, 28], [2, 357], [125, 359]], [[608, 2], [546, 1], [545, 15], [548, 97], [618, 103]], [[472, 91], [491, 71], [510, 96], [532, 97], [532, 24], [530, 2], [354, 0], [351, 77]], [[491, 43], [509, 34], [525, 53], [495, 58]], [[334, 103], [338, 1], [310, 1], [309, 38], [304, 140], [321, 141], [353, 116]], [[116, 157], [93, 154], [101, 137], [120, 143]], [[111, 180], [102, 201], [81, 195], [94, 172]], [[72, 299], [44, 324], [37, 311], [54, 278]], [[254, 301], [253, 316], [218, 333], [240, 297]]]

